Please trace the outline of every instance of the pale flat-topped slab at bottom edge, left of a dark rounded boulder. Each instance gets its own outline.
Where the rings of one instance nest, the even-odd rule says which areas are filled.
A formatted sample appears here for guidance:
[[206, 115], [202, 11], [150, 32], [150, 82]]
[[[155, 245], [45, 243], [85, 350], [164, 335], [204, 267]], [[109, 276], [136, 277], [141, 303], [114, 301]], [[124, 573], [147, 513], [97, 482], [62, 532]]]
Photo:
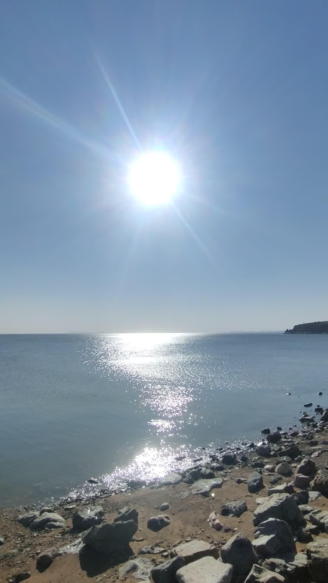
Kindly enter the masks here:
[[213, 557], [203, 557], [176, 572], [178, 583], [230, 583], [232, 565], [221, 563]]

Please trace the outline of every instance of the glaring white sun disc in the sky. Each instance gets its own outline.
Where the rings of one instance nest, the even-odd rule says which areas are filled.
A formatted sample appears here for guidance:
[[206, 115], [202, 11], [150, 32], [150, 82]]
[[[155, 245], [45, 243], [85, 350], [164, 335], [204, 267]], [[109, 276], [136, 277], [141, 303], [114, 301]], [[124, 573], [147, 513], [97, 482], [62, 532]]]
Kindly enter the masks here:
[[141, 154], [128, 176], [131, 191], [145, 205], [169, 202], [177, 192], [179, 180], [179, 167], [165, 152]]

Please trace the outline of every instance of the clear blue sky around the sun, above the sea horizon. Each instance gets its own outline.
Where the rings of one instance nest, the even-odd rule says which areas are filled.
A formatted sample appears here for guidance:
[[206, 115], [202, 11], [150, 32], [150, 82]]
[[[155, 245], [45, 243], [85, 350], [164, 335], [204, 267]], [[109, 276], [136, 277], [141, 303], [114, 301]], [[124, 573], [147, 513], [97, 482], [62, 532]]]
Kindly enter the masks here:
[[[0, 331], [328, 318], [327, 19], [305, 0], [3, 3]], [[139, 147], [179, 163], [172, 205], [131, 195]]]

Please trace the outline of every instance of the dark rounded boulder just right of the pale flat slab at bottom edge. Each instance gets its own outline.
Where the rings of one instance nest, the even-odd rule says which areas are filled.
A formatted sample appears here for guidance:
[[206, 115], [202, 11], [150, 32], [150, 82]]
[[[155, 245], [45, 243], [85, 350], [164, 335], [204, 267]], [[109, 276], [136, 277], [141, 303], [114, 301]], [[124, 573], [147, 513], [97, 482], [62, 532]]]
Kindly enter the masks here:
[[233, 575], [247, 575], [256, 561], [252, 543], [238, 532], [221, 548], [221, 560], [233, 567]]

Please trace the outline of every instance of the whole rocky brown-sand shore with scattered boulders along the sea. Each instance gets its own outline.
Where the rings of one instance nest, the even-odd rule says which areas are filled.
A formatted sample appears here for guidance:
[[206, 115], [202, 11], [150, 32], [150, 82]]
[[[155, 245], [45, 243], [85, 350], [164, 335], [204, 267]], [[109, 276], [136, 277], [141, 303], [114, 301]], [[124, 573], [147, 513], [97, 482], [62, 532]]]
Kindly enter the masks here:
[[156, 483], [1, 510], [0, 581], [327, 581], [328, 409], [304, 406]]

